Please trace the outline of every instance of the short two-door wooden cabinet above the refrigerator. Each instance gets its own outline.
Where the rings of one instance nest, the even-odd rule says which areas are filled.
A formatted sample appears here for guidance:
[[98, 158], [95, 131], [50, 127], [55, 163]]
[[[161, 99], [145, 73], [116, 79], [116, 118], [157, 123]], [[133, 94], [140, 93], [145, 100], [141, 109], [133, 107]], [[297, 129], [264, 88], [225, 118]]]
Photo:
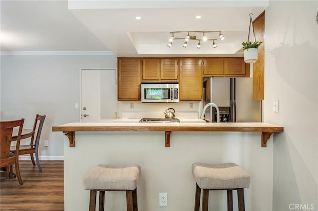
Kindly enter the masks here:
[[245, 62], [241, 57], [203, 60], [203, 76], [246, 76], [247, 73], [249, 72], [245, 71]]

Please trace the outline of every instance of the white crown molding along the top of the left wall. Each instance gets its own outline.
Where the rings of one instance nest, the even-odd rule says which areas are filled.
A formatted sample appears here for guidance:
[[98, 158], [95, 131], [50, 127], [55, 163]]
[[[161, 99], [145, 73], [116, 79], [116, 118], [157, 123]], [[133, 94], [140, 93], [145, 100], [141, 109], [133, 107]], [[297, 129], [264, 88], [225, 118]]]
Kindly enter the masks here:
[[0, 55], [114, 55], [110, 51], [33, 51], [33, 52], [0, 52]]

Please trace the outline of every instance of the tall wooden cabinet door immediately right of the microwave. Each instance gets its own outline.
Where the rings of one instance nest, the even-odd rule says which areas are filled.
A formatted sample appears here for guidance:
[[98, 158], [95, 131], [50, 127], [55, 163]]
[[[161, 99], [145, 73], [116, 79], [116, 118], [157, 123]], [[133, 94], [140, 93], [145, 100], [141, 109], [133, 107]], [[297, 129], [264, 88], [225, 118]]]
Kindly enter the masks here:
[[180, 100], [202, 99], [202, 59], [180, 59]]

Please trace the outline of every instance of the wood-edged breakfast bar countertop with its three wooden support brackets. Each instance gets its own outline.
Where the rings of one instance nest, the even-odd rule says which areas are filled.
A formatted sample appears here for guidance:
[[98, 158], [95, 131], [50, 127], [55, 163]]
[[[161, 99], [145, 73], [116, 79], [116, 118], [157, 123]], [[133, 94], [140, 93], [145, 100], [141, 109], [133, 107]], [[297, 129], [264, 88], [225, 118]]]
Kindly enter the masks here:
[[170, 146], [172, 131], [213, 131], [213, 132], [261, 132], [261, 146], [272, 133], [283, 132], [284, 127], [262, 122], [179, 122], [179, 123], [142, 123], [142, 122], [70, 122], [52, 126], [52, 131], [61, 131], [69, 138], [70, 147], [75, 147], [75, 132], [78, 131], [164, 131], [165, 146]]

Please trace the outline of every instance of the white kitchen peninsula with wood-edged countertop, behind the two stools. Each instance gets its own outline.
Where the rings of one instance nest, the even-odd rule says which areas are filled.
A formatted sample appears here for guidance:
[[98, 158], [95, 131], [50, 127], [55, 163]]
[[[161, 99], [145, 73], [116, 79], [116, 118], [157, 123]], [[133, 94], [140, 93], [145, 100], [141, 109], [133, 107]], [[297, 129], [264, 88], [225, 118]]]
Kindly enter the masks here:
[[[160, 210], [159, 193], [168, 193], [167, 210], [191, 211], [195, 192], [191, 174], [193, 162], [241, 165], [251, 176], [250, 188], [245, 191], [246, 210], [271, 209], [267, 202], [272, 200], [273, 141], [267, 142], [266, 148], [260, 147], [260, 141], [273, 139], [272, 133], [281, 135], [281, 126], [267, 123], [74, 122], [53, 126], [52, 131], [67, 135], [64, 142], [65, 210], [88, 209], [89, 191], [83, 189], [83, 176], [95, 165], [138, 163], [141, 165], [139, 210]], [[169, 147], [167, 139], [171, 140]], [[266, 141], [262, 145], [266, 146]], [[221, 194], [220, 200], [226, 200], [226, 196]], [[106, 196], [106, 204], [110, 210], [125, 210], [125, 195], [111, 192]]]

